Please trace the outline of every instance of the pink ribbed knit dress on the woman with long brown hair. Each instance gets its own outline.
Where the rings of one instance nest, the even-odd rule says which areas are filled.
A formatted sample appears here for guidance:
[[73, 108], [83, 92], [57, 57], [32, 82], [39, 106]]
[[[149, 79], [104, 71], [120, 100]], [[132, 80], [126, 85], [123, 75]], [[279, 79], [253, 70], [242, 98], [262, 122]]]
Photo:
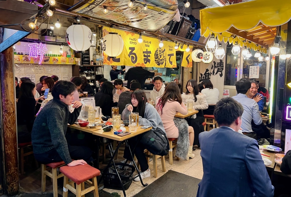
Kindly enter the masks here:
[[179, 104], [179, 102], [177, 101], [166, 102], [163, 107], [163, 113], [161, 112], [161, 109], [157, 109], [157, 111], [163, 121], [167, 138], [178, 138], [179, 131], [178, 128], [175, 126], [173, 119], [176, 115], [176, 112], [180, 112], [183, 115], [186, 115], [188, 113], [185, 104], [183, 102]]

